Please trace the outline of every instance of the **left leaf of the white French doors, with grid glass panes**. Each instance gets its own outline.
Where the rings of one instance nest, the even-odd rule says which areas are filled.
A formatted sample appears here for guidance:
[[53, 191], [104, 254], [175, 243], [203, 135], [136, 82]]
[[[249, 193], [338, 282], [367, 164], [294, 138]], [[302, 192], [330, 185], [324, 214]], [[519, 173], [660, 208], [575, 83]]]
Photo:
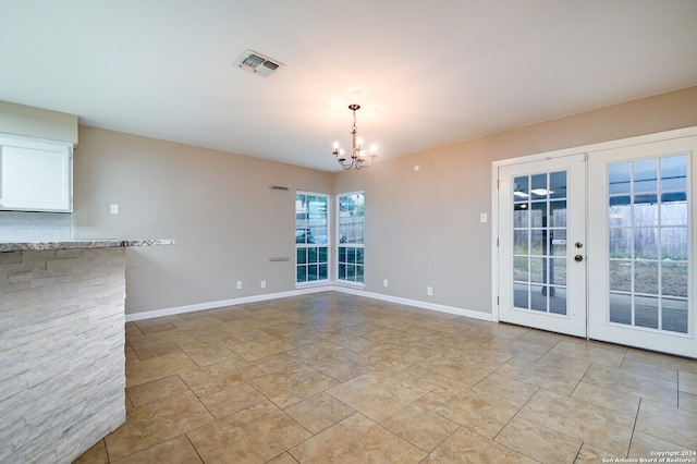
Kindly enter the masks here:
[[499, 168], [499, 319], [586, 335], [585, 155]]

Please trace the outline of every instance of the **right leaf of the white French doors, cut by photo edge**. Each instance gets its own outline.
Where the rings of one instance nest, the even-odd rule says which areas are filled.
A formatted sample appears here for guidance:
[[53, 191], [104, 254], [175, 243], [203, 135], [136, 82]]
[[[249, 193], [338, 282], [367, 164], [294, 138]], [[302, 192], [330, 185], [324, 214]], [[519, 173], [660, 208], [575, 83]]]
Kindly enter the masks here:
[[697, 137], [589, 154], [588, 337], [697, 357]]

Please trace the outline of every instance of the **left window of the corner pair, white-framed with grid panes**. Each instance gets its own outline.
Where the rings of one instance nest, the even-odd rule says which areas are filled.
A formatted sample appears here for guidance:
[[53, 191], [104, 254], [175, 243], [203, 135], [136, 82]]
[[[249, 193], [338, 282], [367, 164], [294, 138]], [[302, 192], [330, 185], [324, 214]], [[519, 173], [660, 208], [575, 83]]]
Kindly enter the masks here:
[[329, 196], [295, 194], [295, 282], [329, 279]]

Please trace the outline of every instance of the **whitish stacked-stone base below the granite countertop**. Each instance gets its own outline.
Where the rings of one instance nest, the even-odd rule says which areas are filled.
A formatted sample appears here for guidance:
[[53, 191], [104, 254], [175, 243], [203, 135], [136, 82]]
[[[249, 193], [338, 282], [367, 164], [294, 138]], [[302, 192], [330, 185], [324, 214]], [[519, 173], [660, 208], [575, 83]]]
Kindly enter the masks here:
[[0, 462], [70, 463], [125, 422], [125, 248], [0, 253]]

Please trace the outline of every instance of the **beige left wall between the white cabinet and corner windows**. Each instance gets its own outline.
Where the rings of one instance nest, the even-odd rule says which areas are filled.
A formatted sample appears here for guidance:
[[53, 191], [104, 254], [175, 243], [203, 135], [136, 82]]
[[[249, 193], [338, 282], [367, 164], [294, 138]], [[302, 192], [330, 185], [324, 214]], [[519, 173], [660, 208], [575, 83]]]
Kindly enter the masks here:
[[127, 314], [294, 290], [294, 193], [331, 193], [330, 173], [82, 125], [80, 141], [80, 236], [176, 240], [127, 251]]

